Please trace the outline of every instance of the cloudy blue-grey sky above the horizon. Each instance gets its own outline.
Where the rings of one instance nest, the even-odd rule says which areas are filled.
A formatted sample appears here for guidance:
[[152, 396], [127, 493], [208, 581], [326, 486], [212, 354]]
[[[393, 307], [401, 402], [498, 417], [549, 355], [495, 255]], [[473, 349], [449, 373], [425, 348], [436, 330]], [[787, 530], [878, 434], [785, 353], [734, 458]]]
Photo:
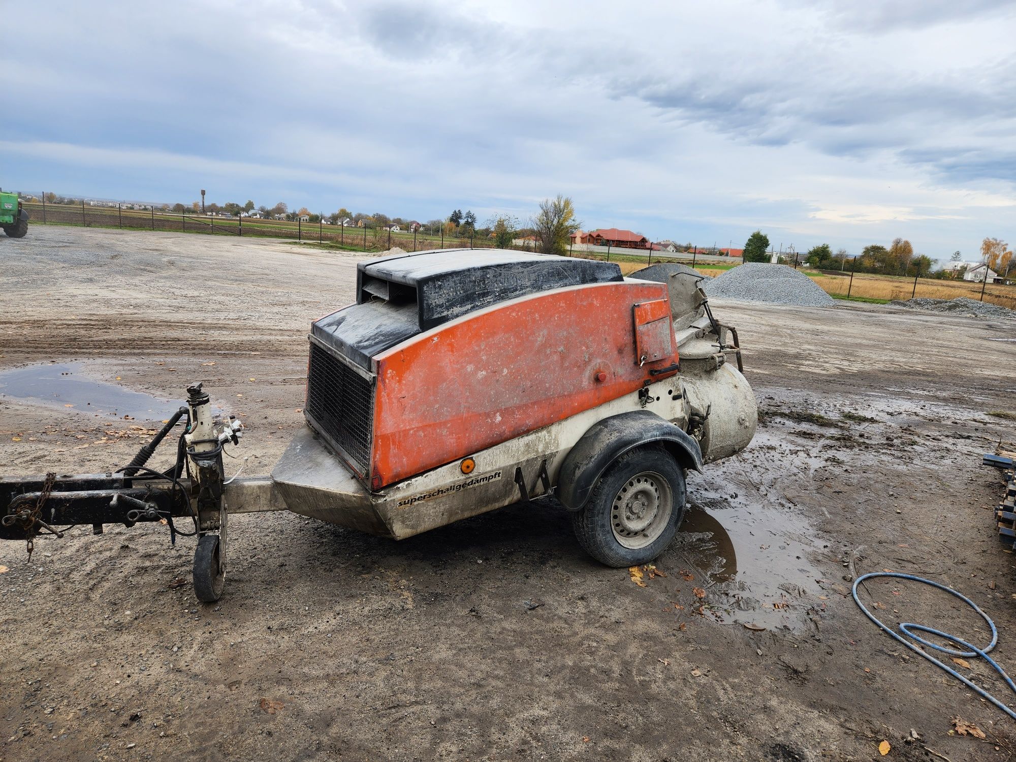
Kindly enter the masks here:
[[0, 5], [5, 188], [1016, 244], [1013, 1]]

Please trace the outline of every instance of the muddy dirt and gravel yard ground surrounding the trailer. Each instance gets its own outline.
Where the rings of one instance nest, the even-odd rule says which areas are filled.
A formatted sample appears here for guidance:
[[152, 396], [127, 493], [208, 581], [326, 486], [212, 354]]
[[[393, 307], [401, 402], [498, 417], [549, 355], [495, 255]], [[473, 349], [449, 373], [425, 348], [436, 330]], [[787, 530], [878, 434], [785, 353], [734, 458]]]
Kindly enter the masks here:
[[[356, 261], [36, 226], [0, 240], [0, 372], [72, 364], [163, 400], [202, 379], [247, 426], [233, 469], [267, 473], [302, 426], [309, 323], [352, 300]], [[1016, 665], [1001, 482], [979, 464], [1016, 439], [988, 415], [1016, 408], [1016, 343], [996, 340], [1016, 326], [714, 309], [740, 330], [762, 426], [690, 474], [666, 576], [642, 587], [597, 565], [553, 501], [401, 543], [237, 517], [214, 606], [192, 594], [193, 541], [165, 529], [78, 527], [30, 564], [3, 543], [0, 758], [818, 762], [882, 759], [887, 741], [889, 760], [1011, 759], [1013, 721], [881, 633], [849, 588], [883, 569], [953, 585]], [[115, 468], [154, 425], [66, 404], [0, 397], [0, 473]], [[873, 581], [864, 599], [890, 624], [989, 640], [931, 588]], [[951, 734], [955, 718], [986, 738]]]

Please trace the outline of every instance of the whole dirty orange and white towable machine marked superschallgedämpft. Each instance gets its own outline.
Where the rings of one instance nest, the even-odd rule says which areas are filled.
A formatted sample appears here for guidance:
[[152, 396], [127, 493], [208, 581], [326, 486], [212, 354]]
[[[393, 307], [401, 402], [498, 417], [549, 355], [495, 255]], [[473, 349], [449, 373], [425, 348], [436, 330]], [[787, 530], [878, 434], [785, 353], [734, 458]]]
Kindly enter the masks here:
[[[402, 539], [553, 494], [593, 558], [647, 563], [681, 523], [686, 472], [744, 449], [757, 424], [737, 331], [700, 279], [498, 249], [361, 262], [356, 303], [311, 325], [307, 427], [270, 477], [225, 479], [242, 426], [193, 384], [116, 472], [0, 478], [0, 538], [30, 552], [70, 524], [165, 523], [197, 536], [194, 590], [212, 601], [231, 514]], [[173, 466], [149, 467], [178, 426]]]

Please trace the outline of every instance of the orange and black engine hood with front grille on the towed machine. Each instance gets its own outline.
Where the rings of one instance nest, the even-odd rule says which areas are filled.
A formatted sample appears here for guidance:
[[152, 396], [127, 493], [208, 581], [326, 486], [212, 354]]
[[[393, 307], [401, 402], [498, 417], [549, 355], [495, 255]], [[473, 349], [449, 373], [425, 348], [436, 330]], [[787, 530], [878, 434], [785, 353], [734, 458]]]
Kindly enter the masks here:
[[305, 416], [377, 491], [677, 370], [664, 283], [607, 262], [427, 252], [361, 263], [358, 303], [312, 326]]

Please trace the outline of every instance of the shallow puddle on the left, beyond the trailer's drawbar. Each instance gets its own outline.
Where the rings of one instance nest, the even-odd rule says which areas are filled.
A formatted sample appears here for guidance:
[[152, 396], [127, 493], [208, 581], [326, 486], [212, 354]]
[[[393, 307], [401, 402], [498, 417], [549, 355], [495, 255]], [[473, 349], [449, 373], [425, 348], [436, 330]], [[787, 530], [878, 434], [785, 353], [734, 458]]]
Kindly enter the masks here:
[[31, 365], [0, 372], [0, 394], [76, 412], [141, 421], [163, 421], [180, 407], [180, 402], [90, 379], [82, 373], [80, 363]]

